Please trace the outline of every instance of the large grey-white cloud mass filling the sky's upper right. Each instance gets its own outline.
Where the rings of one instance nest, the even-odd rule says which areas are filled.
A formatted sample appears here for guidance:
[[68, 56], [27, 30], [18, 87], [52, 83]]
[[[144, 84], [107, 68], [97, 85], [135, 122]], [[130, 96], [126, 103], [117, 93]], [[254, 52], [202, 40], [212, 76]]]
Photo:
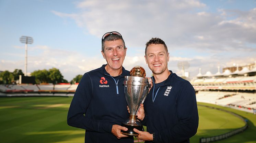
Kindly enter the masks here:
[[[218, 65], [233, 60], [241, 65], [256, 60], [256, 9], [245, 12], [218, 9], [219, 13], [209, 13], [206, 6], [198, 0], [85, 0], [77, 4], [81, 11], [75, 16], [56, 15], [74, 19], [99, 38], [106, 31], [119, 31], [129, 47], [144, 48], [151, 37], [159, 37], [167, 44], [170, 55], [172, 51], [195, 51], [197, 54], [193, 56], [192, 52], [189, 58], [174, 55], [169, 62], [169, 67], [176, 71], [179, 60], [191, 62], [190, 75], [196, 75], [199, 67], [202, 72], [212, 69], [214, 73]], [[128, 69], [136, 64], [147, 67], [143, 52], [137, 57], [127, 56], [124, 62]]]

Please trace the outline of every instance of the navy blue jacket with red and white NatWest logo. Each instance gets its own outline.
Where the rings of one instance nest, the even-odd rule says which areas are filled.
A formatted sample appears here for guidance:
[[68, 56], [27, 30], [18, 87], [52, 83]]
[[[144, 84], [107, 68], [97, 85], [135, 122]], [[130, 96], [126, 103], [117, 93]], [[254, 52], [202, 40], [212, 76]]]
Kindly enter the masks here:
[[85, 143], [133, 143], [133, 138], [117, 139], [112, 125], [129, 118], [124, 96], [124, 77], [110, 76], [103, 65], [83, 75], [68, 111], [68, 125], [85, 129]]

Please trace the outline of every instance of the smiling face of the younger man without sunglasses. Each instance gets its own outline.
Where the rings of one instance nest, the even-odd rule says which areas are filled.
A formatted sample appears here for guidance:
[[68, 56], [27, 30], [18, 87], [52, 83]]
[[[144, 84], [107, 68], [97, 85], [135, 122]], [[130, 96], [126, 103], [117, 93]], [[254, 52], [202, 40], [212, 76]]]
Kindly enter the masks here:
[[163, 44], [150, 44], [147, 47], [145, 60], [154, 76], [169, 72], [167, 68], [169, 58], [169, 53]]

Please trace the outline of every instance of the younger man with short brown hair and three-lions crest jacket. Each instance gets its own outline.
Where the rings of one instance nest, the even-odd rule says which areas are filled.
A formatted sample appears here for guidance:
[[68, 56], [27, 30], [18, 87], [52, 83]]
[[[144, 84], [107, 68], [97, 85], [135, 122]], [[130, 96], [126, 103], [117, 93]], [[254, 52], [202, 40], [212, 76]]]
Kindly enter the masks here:
[[[193, 86], [168, 70], [165, 42], [152, 38], [146, 44], [145, 60], [153, 73], [153, 87], [141, 104], [138, 118], [147, 132], [134, 129], [145, 143], [189, 143], [198, 128], [198, 111]], [[145, 111], [145, 112], [144, 112]]]

